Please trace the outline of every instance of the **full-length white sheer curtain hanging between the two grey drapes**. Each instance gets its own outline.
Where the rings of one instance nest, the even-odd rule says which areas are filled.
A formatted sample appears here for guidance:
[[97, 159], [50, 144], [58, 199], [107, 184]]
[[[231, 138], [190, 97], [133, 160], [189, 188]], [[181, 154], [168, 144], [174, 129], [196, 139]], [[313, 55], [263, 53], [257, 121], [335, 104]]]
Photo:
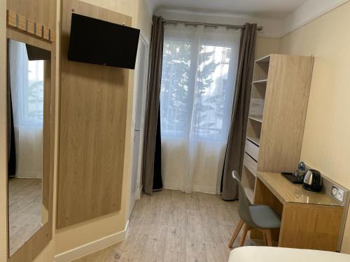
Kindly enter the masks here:
[[220, 193], [240, 31], [165, 26], [160, 92], [164, 187]]

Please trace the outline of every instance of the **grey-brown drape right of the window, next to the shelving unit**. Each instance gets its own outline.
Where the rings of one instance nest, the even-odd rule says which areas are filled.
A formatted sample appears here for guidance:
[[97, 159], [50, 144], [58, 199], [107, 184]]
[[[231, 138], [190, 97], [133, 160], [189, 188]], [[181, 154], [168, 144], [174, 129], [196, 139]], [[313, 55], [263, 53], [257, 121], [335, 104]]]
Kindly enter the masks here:
[[232, 170], [237, 170], [241, 175], [243, 165], [251, 82], [253, 80], [256, 29], [256, 24], [247, 23], [241, 32], [235, 99], [221, 180], [221, 197], [226, 201], [235, 200], [238, 197], [237, 182], [232, 178], [231, 173]]

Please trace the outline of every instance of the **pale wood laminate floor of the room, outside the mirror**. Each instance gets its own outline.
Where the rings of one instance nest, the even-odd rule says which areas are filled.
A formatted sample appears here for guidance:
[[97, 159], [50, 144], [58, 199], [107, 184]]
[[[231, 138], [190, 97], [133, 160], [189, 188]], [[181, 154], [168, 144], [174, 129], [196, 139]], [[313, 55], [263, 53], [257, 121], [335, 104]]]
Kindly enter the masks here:
[[[227, 262], [237, 208], [238, 201], [202, 193], [163, 190], [143, 195], [135, 204], [126, 240], [76, 262]], [[253, 242], [247, 239], [245, 245]]]

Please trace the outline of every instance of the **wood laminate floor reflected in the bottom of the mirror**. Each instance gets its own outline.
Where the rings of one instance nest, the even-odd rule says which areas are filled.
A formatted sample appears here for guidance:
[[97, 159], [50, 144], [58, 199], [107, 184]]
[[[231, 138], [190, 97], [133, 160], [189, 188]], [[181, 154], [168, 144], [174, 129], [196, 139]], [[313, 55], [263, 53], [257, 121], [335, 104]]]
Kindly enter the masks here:
[[41, 179], [8, 180], [10, 255], [41, 228]]

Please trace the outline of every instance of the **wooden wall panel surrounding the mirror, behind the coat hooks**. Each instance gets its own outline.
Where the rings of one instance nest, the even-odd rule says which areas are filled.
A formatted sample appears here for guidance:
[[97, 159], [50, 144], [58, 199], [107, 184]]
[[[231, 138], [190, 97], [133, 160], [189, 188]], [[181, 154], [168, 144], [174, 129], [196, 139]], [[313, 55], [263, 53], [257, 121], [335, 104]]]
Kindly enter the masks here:
[[[56, 31], [56, 0], [7, 0], [6, 9]], [[48, 222], [44, 224], [9, 262], [33, 261], [52, 239], [53, 169], [55, 150], [55, 65], [56, 45], [16, 29], [7, 28], [7, 38], [51, 51], [51, 61], [45, 62], [44, 116], [43, 116], [43, 205], [48, 208]]]

